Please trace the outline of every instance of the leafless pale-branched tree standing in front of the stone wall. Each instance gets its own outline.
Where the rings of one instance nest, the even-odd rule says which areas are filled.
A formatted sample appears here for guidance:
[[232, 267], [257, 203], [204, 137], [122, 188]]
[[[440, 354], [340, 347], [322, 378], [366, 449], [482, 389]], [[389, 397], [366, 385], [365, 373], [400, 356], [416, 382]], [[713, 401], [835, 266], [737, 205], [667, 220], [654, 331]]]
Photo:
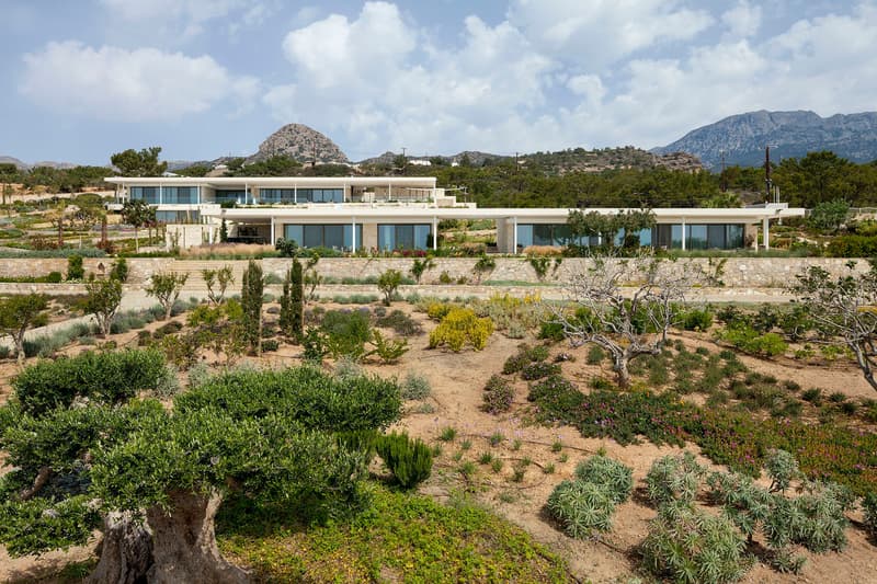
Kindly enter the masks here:
[[567, 284], [569, 302], [549, 305], [553, 321], [563, 327], [572, 346], [594, 343], [610, 353], [618, 386], [628, 387], [630, 359], [661, 352], [685, 291], [703, 279], [703, 271], [693, 263], [674, 268], [646, 252], [589, 257], [590, 266]]

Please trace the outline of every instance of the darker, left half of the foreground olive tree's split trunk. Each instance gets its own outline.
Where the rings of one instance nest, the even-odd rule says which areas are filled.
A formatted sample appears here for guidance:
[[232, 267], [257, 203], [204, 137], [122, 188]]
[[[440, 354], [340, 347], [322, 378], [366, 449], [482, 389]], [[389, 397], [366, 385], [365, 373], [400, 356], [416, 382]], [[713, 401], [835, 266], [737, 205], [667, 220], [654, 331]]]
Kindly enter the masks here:
[[129, 513], [110, 513], [103, 520], [101, 560], [87, 584], [145, 582], [152, 566], [152, 534]]

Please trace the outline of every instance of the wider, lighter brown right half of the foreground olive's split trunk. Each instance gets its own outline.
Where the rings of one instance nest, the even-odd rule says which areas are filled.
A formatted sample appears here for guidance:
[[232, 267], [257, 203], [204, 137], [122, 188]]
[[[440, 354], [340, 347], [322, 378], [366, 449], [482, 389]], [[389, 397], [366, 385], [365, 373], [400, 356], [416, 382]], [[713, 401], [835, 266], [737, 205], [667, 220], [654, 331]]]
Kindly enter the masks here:
[[175, 491], [170, 493], [170, 513], [157, 506], [147, 509], [155, 560], [150, 583], [249, 582], [247, 572], [224, 560], [216, 546], [214, 522], [221, 501], [218, 493]]

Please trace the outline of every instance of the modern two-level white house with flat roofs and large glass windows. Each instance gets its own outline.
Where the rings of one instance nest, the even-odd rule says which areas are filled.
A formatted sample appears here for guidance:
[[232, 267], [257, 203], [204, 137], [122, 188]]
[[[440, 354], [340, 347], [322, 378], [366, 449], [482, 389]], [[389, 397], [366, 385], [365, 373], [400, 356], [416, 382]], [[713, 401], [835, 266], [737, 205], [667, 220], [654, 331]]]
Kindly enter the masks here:
[[[529, 245], [569, 241], [568, 208], [478, 208], [458, 203], [429, 176], [250, 176], [123, 178], [116, 203], [141, 199], [164, 224], [203, 226], [209, 242], [226, 222], [235, 241], [267, 243], [293, 239], [306, 248], [344, 250], [435, 249], [444, 219], [490, 219], [497, 249], [517, 253]], [[594, 208], [602, 214], [625, 209]], [[676, 249], [737, 249], [754, 245], [758, 226], [770, 248], [770, 224], [802, 217], [785, 204], [745, 208], [658, 208], [656, 226], [640, 232], [642, 245]], [[585, 238], [582, 244], [600, 243]], [[201, 243], [191, 240], [189, 244]]]

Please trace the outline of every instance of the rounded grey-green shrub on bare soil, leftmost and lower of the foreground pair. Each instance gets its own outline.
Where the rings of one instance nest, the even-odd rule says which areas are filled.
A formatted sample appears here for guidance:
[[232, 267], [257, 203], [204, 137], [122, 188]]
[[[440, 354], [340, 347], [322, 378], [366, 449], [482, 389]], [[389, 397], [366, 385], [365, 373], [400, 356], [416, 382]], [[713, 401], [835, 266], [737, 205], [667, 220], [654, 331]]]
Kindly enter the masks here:
[[606, 490], [582, 481], [563, 481], [548, 496], [548, 512], [568, 536], [583, 539], [612, 529], [615, 503]]

